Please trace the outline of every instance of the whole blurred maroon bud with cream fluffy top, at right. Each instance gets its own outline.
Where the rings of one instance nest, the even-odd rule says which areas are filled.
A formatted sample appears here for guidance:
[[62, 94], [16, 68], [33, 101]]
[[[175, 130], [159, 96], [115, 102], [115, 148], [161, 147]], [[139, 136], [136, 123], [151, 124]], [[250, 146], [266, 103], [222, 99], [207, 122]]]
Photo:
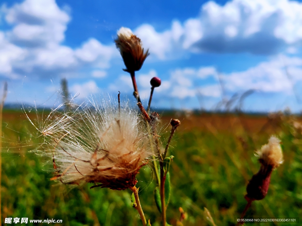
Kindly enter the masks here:
[[258, 173], [253, 175], [246, 187], [247, 200], [261, 200], [266, 196], [271, 180], [271, 172], [283, 162], [280, 140], [274, 136], [271, 136], [268, 143], [263, 145], [256, 153], [259, 156], [261, 166]]

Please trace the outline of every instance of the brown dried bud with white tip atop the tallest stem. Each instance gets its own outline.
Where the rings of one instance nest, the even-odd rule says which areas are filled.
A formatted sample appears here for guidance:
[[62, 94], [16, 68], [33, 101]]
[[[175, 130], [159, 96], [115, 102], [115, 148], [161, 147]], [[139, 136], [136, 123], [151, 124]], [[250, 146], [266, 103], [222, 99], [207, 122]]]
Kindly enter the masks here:
[[133, 35], [129, 28], [121, 27], [117, 32], [115, 44], [120, 50], [120, 55], [122, 55], [127, 67], [124, 71], [134, 72], [140, 70], [149, 55], [148, 50], [144, 53], [140, 39]]

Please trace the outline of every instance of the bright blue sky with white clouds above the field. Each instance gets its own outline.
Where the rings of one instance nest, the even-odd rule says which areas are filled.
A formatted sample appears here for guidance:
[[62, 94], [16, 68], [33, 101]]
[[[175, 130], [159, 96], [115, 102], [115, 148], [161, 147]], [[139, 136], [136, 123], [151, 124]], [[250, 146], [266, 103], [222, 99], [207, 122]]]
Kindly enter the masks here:
[[244, 111], [302, 109], [302, 3], [288, 0], [4, 1], [7, 102], [58, 103], [62, 78], [78, 102], [118, 91], [133, 99], [114, 45], [120, 27], [149, 48], [136, 76], [145, 103], [150, 79], [162, 79], [155, 108], [234, 109], [249, 93]]

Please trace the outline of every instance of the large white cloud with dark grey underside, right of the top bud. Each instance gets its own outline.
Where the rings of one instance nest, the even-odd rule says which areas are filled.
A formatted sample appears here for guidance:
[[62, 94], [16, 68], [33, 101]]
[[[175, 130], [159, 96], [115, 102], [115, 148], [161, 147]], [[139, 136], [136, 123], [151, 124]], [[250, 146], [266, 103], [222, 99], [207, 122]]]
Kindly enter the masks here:
[[[202, 5], [200, 15], [178, 21], [164, 32], [143, 24], [135, 31], [159, 59], [175, 52], [251, 52], [272, 54], [302, 40], [302, 3], [289, 0], [233, 0]], [[288, 49], [291, 53], [294, 47]], [[171, 53], [173, 52], [173, 54]]]

